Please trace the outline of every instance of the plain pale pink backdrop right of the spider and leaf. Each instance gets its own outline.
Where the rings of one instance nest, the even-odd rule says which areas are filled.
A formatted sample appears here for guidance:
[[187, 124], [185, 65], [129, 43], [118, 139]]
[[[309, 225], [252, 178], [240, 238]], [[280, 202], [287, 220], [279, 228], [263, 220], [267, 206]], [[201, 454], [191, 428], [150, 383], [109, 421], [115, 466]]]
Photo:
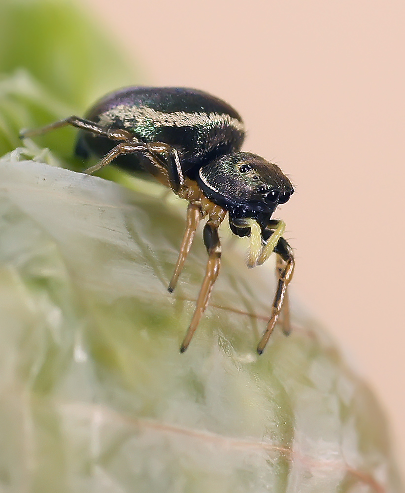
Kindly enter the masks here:
[[279, 212], [293, 296], [379, 395], [403, 467], [404, 1], [87, 2], [141, 68], [134, 84], [225, 99], [244, 150], [296, 184]]

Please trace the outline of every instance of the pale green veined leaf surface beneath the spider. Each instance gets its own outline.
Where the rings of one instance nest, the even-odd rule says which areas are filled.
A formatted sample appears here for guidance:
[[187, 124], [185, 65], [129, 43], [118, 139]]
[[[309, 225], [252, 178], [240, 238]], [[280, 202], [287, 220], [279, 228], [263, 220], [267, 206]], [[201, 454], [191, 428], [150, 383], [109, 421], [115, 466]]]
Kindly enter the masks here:
[[378, 405], [311, 318], [293, 305], [293, 333], [255, 352], [269, 266], [248, 270], [225, 241], [180, 354], [206, 262], [197, 238], [168, 293], [184, 204], [21, 159], [0, 161], [0, 485], [400, 491]]

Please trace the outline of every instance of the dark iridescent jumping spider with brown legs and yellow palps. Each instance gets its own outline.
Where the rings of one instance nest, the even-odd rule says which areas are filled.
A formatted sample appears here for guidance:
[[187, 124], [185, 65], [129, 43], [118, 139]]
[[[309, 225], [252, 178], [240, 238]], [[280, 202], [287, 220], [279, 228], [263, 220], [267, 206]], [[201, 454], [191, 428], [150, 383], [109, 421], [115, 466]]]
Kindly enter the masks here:
[[189, 346], [218, 277], [218, 227], [227, 215], [232, 232], [250, 239], [248, 267], [262, 264], [273, 252], [277, 255], [277, 288], [257, 352], [264, 351], [283, 302], [283, 331], [290, 332], [286, 289], [293, 277], [294, 255], [282, 236], [284, 222], [271, 219], [271, 215], [279, 204], [289, 200], [294, 188], [277, 165], [240, 150], [244, 126], [232, 106], [195, 89], [129, 87], [107, 94], [85, 118], [69, 116], [23, 132], [21, 137], [66, 125], [80, 129], [78, 156], [101, 157], [86, 173], [100, 170], [118, 158], [117, 165], [150, 173], [189, 202], [170, 292], [177, 284], [200, 221], [207, 219], [203, 228], [208, 252], [206, 272], [180, 352]]

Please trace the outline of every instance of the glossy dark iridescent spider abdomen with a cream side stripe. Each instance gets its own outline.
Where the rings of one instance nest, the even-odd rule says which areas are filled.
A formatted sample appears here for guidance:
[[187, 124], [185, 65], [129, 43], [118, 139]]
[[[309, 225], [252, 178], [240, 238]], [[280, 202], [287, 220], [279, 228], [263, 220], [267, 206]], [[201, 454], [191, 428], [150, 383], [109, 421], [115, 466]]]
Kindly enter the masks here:
[[[243, 122], [236, 110], [203, 91], [188, 88], [130, 87], [104, 96], [85, 115], [104, 128], [125, 129], [140, 142], [164, 142], [179, 154], [182, 171], [193, 172], [205, 162], [239, 150], [244, 140]], [[105, 155], [114, 142], [80, 132], [81, 156]], [[118, 161], [138, 169], [139, 156]]]

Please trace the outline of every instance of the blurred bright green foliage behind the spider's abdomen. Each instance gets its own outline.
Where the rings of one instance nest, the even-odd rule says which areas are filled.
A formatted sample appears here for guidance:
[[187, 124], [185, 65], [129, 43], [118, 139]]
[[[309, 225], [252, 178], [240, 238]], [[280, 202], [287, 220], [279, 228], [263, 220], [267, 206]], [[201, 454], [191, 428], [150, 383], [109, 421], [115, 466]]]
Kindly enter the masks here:
[[[70, 1], [0, 2], [0, 154], [21, 145], [22, 128], [83, 114], [106, 92], [133, 85], [134, 67]], [[73, 163], [73, 129], [36, 140]]]

